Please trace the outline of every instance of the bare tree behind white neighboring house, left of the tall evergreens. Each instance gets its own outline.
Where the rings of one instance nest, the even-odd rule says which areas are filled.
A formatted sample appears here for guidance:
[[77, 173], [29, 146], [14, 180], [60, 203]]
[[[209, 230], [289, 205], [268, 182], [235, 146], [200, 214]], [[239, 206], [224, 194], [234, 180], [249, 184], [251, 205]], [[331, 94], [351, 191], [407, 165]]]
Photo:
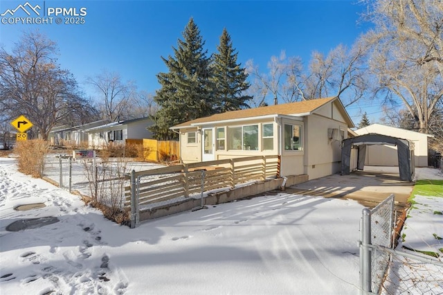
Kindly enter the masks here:
[[134, 98], [135, 86], [132, 82], [123, 82], [118, 73], [102, 71], [94, 77], [87, 78], [99, 94], [98, 109], [103, 119], [111, 122], [129, 116], [129, 101]]

